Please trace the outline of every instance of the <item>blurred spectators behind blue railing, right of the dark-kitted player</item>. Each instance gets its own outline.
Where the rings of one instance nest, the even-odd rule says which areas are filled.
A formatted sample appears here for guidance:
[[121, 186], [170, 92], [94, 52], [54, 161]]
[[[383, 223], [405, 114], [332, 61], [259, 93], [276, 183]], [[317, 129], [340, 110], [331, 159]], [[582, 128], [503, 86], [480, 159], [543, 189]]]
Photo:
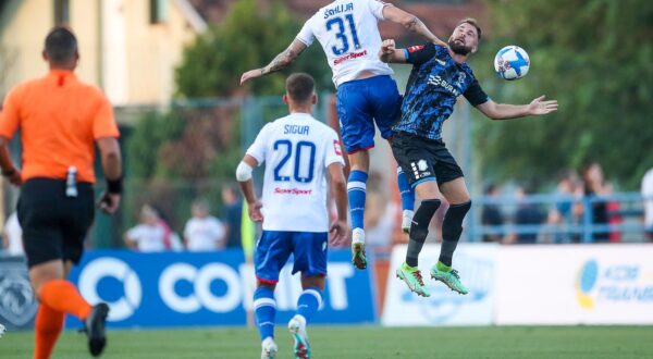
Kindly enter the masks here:
[[[649, 178], [642, 181], [642, 197], [653, 199], [653, 170]], [[506, 226], [505, 233], [491, 233], [482, 236], [482, 242], [502, 244], [567, 244], [581, 242], [581, 225], [589, 220], [595, 230], [591, 233], [592, 243], [619, 243], [621, 231], [617, 225], [624, 222], [624, 214], [618, 200], [609, 198], [613, 185], [606, 181], [603, 169], [597, 162], [586, 165], [579, 175], [574, 170], [562, 173], [558, 177], [553, 201], [542, 206], [535, 201], [525, 200], [531, 190], [526, 185], [518, 185], [513, 197], [516, 208], [512, 212], [502, 210], [492, 199], [500, 198], [502, 193], [497, 185], [491, 184], [484, 195], [490, 199], [481, 209], [481, 223], [493, 228]], [[507, 195], [508, 197], [510, 195]], [[607, 196], [607, 198], [605, 198]], [[605, 199], [604, 199], [605, 198]], [[586, 213], [586, 211], [588, 211]], [[641, 216], [641, 212], [636, 212]], [[653, 208], [651, 201], [644, 201], [643, 223], [645, 236], [651, 239], [653, 232]], [[510, 227], [521, 226], [521, 231], [510, 232]]]

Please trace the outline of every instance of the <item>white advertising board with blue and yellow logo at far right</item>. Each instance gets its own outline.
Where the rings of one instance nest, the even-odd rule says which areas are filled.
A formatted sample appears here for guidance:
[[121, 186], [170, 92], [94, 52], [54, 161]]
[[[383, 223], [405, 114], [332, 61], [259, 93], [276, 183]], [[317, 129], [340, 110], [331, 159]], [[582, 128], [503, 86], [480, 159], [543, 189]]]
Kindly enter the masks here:
[[653, 323], [653, 246], [504, 246], [496, 324]]

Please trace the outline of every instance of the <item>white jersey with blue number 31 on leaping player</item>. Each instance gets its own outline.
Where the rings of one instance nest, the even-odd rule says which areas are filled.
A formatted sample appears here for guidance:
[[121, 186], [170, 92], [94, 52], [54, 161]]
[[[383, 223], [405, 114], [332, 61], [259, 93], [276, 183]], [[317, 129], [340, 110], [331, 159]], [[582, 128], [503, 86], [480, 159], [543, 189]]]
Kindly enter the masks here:
[[378, 0], [336, 0], [318, 10], [305, 24], [297, 39], [310, 46], [317, 38], [333, 71], [335, 87], [356, 79], [369, 71], [392, 75], [390, 66], [379, 60], [385, 3]]

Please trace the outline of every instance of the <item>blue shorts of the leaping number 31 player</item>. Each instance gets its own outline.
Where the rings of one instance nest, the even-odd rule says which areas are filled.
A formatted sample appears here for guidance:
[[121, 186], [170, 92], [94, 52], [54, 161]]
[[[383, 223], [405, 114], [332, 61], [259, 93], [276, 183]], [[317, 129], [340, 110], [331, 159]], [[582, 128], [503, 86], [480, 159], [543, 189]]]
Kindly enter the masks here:
[[402, 96], [395, 81], [374, 76], [346, 82], [338, 86], [335, 107], [341, 135], [347, 153], [374, 147], [374, 122], [385, 139], [399, 119]]

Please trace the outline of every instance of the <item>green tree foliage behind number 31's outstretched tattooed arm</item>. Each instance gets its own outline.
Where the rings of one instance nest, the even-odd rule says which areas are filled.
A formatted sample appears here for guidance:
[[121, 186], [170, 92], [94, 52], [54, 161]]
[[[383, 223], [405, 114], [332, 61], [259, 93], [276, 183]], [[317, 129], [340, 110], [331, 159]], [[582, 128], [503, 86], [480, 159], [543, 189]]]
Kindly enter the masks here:
[[[231, 96], [239, 87], [241, 74], [268, 64], [293, 41], [301, 23], [280, 1], [262, 11], [259, 2], [242, 0], [220, 24], [211, 26], [186, 48], [175, 79], [180, 96], [187, 98]], [[281, 74], [251, 82], [257, 95], [280, 95], [291, 72], [310, 73], [318, 87], [329, 88], [330, 71], [313, 46]]]

